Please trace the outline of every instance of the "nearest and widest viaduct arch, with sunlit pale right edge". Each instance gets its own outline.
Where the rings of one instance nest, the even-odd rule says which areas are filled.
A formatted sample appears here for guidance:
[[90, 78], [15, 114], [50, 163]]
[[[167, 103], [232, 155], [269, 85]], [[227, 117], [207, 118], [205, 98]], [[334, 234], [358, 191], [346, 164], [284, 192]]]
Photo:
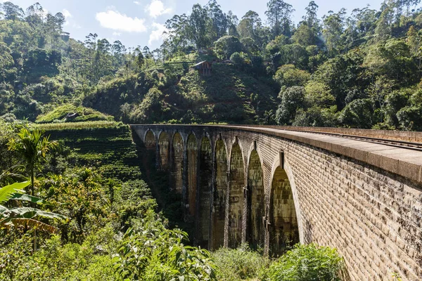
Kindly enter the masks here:
[[279, 255], [288, 244], [303, 241], [298, 193], [293, 171], [281, 154], [271, 171], [267, 216], [269, 253]]

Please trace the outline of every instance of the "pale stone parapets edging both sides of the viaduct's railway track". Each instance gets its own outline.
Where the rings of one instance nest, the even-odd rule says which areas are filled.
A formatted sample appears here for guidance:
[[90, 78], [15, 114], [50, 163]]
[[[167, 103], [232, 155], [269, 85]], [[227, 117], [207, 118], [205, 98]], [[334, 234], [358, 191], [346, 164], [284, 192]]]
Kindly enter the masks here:
[[[269, 136], [286, 138], [290, 141], [298, 141], [316, 148], [321, 148], [331, 152], [335, 152], [345, 157], [357, 159], [366, 164], [371, 164], [393, 174], [404, 176], [417, 183], [422, 183], [422, 151], [411, 150], [411, 148], [397, 148], [382, 143], [369, 143], [357, 139], [347, 139], [340, 136], [327, 136], [321, 133], [352, 133], [355, 136], [378, 136], [388, 139], [410, 139], [422, 140], [421, 132], [397, 132], [373, 130], [355, 130], [355, 129], [338, 129], [336, 128], [316, 128], [315, 133], [309, 131], [293, 131], [297, 127], [286, 126], [255, 126], [255, 125], [168, 125], [168, 124], [142, 124], [131, 125], [132, 128], [142, 126], [146, 128], [155, 127], [165, 129], [171, 126], [174, 129], [186, 129], [186, 127], [199, 127], [203, 129], [222, 129], [222, 130], [241, 130], [252, 131], [255, 133], [264, 133]], [[291, 129], [290, 129], [291, 128]], [[309, 128], [302, 127], [301, 130]], [[323, 131], [323, 129], [326, 129]], [[384, 133], [380, 133], [384, 132]], [[421, 136], [419, 136], [421, 135]]]

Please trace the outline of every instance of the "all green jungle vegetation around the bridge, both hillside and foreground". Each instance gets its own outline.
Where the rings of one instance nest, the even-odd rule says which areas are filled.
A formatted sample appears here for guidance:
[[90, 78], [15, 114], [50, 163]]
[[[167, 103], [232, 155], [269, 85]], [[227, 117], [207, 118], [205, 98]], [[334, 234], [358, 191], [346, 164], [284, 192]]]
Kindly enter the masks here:
[[[190, 245], [125, 124], [421, 131], [419, 2], [318, 18], [311, 1], [293, 22], [283, 0], [265, 18], [211, 0], [167, 20], [155, 50], [94, 30], [78, 41], [62, 13], [0, 3], [0, 280], [339, 280], [328, 247], [275, 259]], [[192, 67], [203, 60], [210, 76]]]

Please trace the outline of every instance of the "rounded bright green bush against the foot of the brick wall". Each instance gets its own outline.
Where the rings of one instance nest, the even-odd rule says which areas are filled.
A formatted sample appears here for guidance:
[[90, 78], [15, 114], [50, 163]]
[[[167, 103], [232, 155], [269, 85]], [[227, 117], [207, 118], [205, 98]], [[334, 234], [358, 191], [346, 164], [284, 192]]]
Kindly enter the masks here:
[[344, 270], [343, 259], [335, 249], [297, 244], [271, 264], [269, 275], [274, 281], [340, 281], [341, 270]]

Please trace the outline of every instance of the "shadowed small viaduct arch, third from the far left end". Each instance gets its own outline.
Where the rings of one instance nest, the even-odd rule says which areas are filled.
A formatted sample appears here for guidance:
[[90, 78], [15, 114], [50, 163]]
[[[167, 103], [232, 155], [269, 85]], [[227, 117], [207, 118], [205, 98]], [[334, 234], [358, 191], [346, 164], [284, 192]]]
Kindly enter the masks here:
[[174, 133], [172, 141], [172, 188], [181, 193], [183, 190], [184, 139], [179, 132]]

